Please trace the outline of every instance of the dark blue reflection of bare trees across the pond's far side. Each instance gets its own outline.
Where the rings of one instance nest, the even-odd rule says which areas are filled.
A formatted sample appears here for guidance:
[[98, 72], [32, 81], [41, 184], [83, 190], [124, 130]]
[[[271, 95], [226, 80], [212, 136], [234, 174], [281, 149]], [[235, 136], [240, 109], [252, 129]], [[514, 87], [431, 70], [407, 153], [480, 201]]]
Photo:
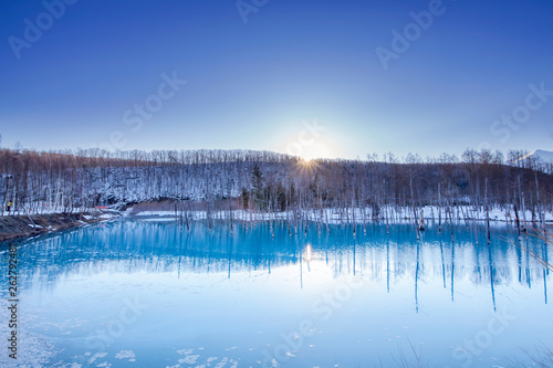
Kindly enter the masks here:
[[[386, 283], [388, 290], [401, 280], [413, 281], [414, 285], [439, 280], [440, 286], [453, 293], [455, 281], [467, 278], [473, 285], [488, 285], [492, 296], [499, 285], [546, 285], [543, 266], [499, 236], [490, 245], [474, 245], [470, 233], [459, 233], [457, 242], [451, 243], [431, 229], [417, 242], [411, 239], [413, 232], [401, 227], [393, 228], [389, 236], [384, 227], [375, 227], [366, 235], [357, 231], [356, 238], [338, 225], [321, 236], [316, 231], [310, 231], [307, 236], [290, 236], [284, 223], [276, 224], [274, 231], [272, 239], [264, 223], [237, 225], [233, 235], [225, 224], [208, 230], [195, 223], [191, 231], [176, 222], [145, 221], [82, 228], [21, 246], [19, 285], [23, 290], [31, 285], [48, 288], [60, 277], [104, 272], [270, 272], [286, 265], [300, 266], [305, 261], [307, 244], [311, 266], [304, 262], [302, 272], [321, 263], [335, 276], [355, 273]], [[529, 239], [528, 246], [547, 257], [547, 248], [538, 240]], [[6, 265], [7, 262], [1, 266], [4, 273]], [[420, 284], [415, 291], [419, 287]]]

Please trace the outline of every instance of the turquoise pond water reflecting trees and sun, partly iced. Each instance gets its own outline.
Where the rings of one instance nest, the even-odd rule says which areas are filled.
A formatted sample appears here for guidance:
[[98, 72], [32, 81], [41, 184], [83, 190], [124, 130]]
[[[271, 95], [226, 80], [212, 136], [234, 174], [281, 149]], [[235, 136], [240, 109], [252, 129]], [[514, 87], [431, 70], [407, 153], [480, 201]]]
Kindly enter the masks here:
[[[553, 347], [551, 275], [474, 230], [124, 220], [20, 244], [21, 367], [508, 367]], [[522, 242], [547, 259], [547, 245]], [[2, 275], [8, 252], [2, 248]], [[2, 351], [8, 358], [8, 277]]]

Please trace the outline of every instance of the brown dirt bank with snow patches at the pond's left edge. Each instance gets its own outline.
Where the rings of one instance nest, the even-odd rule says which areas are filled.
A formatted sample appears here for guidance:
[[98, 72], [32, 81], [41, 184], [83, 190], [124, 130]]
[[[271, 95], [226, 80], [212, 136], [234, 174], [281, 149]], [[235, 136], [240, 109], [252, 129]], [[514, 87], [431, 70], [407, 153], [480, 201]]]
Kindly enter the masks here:
[[52, 213], [0, 217], [0, 242], [76, 228], [105, 220], [104, 213]]

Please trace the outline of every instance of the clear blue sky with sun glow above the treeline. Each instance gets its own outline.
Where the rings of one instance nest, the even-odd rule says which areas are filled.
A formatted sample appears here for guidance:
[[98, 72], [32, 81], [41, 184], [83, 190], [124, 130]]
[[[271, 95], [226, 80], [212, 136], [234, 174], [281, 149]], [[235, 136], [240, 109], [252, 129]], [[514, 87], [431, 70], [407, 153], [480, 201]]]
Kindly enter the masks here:
[[553, 150], [551, 0], [22, 0], [0, 10], [3, 147]]

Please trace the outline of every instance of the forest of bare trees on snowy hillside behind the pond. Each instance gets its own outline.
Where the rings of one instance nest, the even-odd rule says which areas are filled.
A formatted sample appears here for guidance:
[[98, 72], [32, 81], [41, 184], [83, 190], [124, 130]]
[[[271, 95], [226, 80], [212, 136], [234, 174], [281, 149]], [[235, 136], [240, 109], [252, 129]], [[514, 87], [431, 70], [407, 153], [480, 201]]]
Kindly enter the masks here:
[[[510, 208], [521, 220], [552, 211], [553, 168], [526, 151], [467, 149], [422, 159], [393, 154], [365, 160], [317, 159], [251, 150], [0, 149], [2, 213], [71, 212], [94, 207], [171, 200], [181, 209], [254, 212], [345, 210], [348, 221], [388, 220], [425, 206], [452, 217], [472, 208]], [[195, 207], [191, 207], [194, 203]], [[463, 206], [459, 206], [463, 204]], [[531, 218], [524, 213], [530, 211]], [[437, 214], [438, 215], [438, 214]], [[349, 218], [351, 217], [351, 218]], [[359, 219], [361, 217], [361, 219]], [[441, 220], [440, 220], [441, 221]]]

